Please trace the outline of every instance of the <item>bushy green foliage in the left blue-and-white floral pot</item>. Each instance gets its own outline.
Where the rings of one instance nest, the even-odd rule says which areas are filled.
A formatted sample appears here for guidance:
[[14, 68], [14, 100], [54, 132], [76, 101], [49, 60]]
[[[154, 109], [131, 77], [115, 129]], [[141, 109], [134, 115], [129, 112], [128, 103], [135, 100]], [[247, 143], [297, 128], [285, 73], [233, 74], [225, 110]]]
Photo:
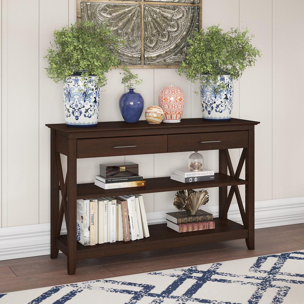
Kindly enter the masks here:
[[106, 73], [118, 65], [113, 54], [119, 39], [109, 27], [97, 26], [93, 22], [79, 22], [54, 31], [54, 43], [47, 50], [47, 76], [56, 83], [74, 73], [81, 78], [96, 75], [96, 83], [103, 87], [107, 83]]

